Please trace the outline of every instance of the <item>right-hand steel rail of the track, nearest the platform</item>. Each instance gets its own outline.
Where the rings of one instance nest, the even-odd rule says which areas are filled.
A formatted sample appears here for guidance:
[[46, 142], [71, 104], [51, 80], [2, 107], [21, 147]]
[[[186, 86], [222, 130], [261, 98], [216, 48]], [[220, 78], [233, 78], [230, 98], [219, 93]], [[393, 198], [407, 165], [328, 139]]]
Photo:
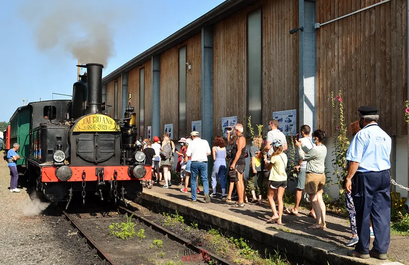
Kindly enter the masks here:
[[[213, 262], [213, 264], [235, 265], [235, 263], [232, 263], [232, 262], [230, 262], [228, 260], [225, 260], [224, 258], [219, 257], [216, 254], [213, 254], [213, 253], [209, 252], [207, 249], [203, 249], [203, 248], [200, 248], [200, 247], [197, 247], [197, 246], [191, 244], [191, 241], [185, 239], [184, 237], [179, 236], [178, 234], [175, 234], [174, 232], [166, 229], [165, 227], [163, 227], [161, 225], [153, 223], [152, 221], [150, 221], [150, 220], [146, 219], [145, 217], [135, 213], [134, 211], [131, 211], [131, 210], [129, 210], [129, 209], [125, 208], [125, 207], [122, 207], [122, 206], [118, 206], [118, 208], [119, 208], [119, 210], [125, 211], [126, 213], [132, 215], [133, 218], [144, 222], [146, 226], [154, 229], [157, 232], [160, 232], [160, 233], [164, 234], [168, 238], [170, 237], [171, 240], [185, 245], [187, 248], [189, 248], [192, 251], [198, 253], [198, 256], [200, 256], [202, 254], [208, 255], [211, 258], [211, 261]], [[194, 261], [194, 260], [190, 260], [190, 261]]]

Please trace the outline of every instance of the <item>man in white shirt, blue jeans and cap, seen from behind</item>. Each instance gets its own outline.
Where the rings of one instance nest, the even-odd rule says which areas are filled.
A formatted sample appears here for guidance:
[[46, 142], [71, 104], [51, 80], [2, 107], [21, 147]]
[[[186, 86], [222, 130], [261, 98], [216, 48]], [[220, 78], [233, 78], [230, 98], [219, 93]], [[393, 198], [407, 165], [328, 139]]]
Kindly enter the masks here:
[[200, 139], [197, 131], [192, 131], [190, 134], [193, 141], [189, 144], [186, 151], [187, 156], [191, 156], [191, 193], [192, 201], [196, 202], [196, 177], [200, 173], [200, 178], [203, 183], [203, 192], [205, 193], [206, 203], [210, 202], [209, 196], [209, 180], [208, 180], [208, 155], [211, 155], [212, 151], [208, 141]]

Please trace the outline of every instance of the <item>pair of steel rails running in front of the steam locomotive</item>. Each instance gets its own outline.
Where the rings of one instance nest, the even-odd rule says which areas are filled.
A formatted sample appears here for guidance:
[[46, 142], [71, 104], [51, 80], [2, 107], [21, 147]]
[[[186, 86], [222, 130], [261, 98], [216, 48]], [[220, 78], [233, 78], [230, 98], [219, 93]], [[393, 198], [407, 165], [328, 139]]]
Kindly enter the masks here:
[[[87, 247], [91, 250], [92, 255], [97, 255], [100, 262], [99, 264], [103, 265], [116, 265], [116, 264], [121, 264], [122, 262], [115, 262], [115, 258], [113, 256], [110, 256], [109, 252], [110, 249], [106, 249], [106, 244], [104, 242], [100, 242], [93, 238], [94, 236], [91, 235], [92, 233], [88, 233], [87, 229], [85, 226], [80, 224], [80, 221], [75, 220], [76, 219], [76, 214], [71, 214], [67, 213], [67, 211], [63, 209], [59, 209], [61, 211], [61, 214], [64, 216], [64, 218], [70, 223], [70, 225], [73, 227], [74, 231], [77, 232], [77, 235], [80, 237], [82, 242], [87, 245]], [[211, 264], [226, 264], [226, 265], [233, 265], [235, 263], [232, 263], [224, 258], [221, 258], [217, 256], [214, 253], [209, 252], [207, 249], [204, 249], [200, 247], [200, 244], [192, 243], [189, 240], [185, 239], [184, 237], [166, 229], [165, 227], [158, 225], [150, 220], [148, 220], [146, 217], [141, 216], [135, 211], [132, 211], [128, 209], [127, 207], [123, 206], [118, 206], [117, 207], [118, 213], [120, 214], [127, 214], [128, 216], [132, 216], [133, 219], [138, 220], [140, 223], [144, 224], [147, 228], [150, 228], [151, 230], [155, 231], [156, 233], [160, 233], [163, 236], [165, 236], [167, 239], [177, 242], [180, 244], [180, 247], [185, 247], [190, 250], [190, 255], [184, 257], [184, 262], [186, 263], [191, 263], [192, 262], [197, 262], [200, 261], [201, 263], [211, 263]], [[78, 214], [77, 214], [78, 215]], [[115, 219], [115, 218], [107, 218], [107, 220], [110, 221], [110, 219]], [[92, 218], [89, 218], [87, 220], [91, 220]], [[106, 219], [105, 219], [106, 220]], [[101, 243], [101, 244], [99, 244]], [[123, 242], [123, 248], [126, 248], [126, 241]], [[103, 246], [105, 245], [105, 246]], [[134, 255], [137, 255], [138, 253], [135, 252]], [[185, 260], [186, 259], [186, 260]], [[137, 262], [132, 263], [132, 264], [138, 264]], [[195, 263], [197, 264], [197, 263]]]

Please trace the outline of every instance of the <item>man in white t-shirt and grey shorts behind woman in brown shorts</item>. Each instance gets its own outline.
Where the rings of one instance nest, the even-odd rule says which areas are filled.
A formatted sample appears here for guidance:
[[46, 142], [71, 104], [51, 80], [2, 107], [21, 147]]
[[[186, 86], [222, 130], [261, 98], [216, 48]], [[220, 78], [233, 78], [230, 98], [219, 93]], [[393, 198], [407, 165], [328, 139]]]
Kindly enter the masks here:
[[[312, 138], [310, 137], [311, 127], [308, 125], [302, 125], [300, 128], [300, 142], [307, 146], [309, 149], [312, 149], [315, 144], [312, 143]], [[299, 148], [299, 152], [303, 152], [303, 149]], [[298, 215], [298, 206], [300, 205], [302, 193], [305, 185], [305, 175], [307, 173], [307, 161], [299, 160], [299, 165], [296, 166], [296, 170], [299, 171], [297, 177], [297, 188], [296, 188], [296, 199], [294, 201], [294, 207], [292, 209], [285, 209], [287, 214]], [[315, 218], [314, 209], [311, 209], [309, 213], [310, 217]]]

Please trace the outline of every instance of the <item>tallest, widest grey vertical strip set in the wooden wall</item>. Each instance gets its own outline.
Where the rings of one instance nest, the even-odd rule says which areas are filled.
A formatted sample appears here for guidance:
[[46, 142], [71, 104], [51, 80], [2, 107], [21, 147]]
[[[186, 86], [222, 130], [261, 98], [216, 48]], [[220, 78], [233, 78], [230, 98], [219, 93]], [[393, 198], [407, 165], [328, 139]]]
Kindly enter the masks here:
[[[261, 9], [247, 17], [247, 116], [252, 116], [252, 124], [262, 124], [262, 39]], [[255, 129], [257, 131], [257, 128]]]

